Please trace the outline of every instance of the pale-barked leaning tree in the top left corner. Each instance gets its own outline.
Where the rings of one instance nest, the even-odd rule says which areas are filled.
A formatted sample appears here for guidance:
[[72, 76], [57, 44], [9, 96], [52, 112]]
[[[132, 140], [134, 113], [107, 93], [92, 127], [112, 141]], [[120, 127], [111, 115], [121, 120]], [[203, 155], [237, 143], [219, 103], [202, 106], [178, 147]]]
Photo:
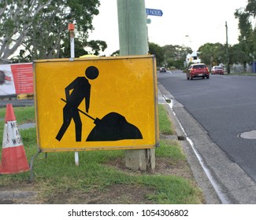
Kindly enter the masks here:
[[27, 37], [35, 16], [50, 4], [51, 0], [0, 1], [0, 59], [8, 58]]

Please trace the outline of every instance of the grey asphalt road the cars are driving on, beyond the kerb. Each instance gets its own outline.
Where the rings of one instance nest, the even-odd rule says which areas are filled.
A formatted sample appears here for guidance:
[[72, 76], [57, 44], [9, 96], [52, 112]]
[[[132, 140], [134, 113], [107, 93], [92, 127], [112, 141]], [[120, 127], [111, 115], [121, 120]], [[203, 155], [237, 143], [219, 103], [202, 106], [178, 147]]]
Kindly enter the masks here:
[[[254, 188], [256, 139], [239, 138], [239, 134], [256, 130], [256, 77], [210, 75], [210, 79], [187, 80], [184, 73], [161, 73], [158, 74], [158, 83], [161, 83], [165, 90], [168, 90], [175, 100], [191, 114], [199, 126], [202, 126], [202, 130], [197, 133], [196, 128], [193, 130], [193, 126], [189, 125], [189, 119], [178, 113], [188, 135], [193, 137], [197, 133], [197, 137], [205, 138], [200, 141], [195, 140], [195, 142], [200, 145], [201, 153], [207, 154], [203, 159], [208, 158], [207, 163], [212, 164], [210, 166], [214, 167], [218, 178], [227, 181], [223, 183], [224, 190], [237, 191], [239, 187], [240, 189], [247, 188], [248, 185]], [[210, 142], [202, 145], [208, 137], [216, 145]], [[221, 151], [216, 153], [218, 148], [221, 148]], [[220, 154], [223, 160], [218, 158]], [[225, 157], [227, 159], [224, 159]], [[225, 164], [226, 161], [230, 167]], [[239, 170], [240, 168], [242, 169]], [[216, 171], [217, 169], [219, 171]], [[249, 182], [250, 178], [254, 182], [248, 184], [241, 182], [246, 178]], [[231, 187], [229, 190], [228, 184], [236, 185], [236, 187]], [[244, 194], [248, 193], [247, 198], [244, 198], [242, 202], [238, 201], [239, 199], [233, 202], [255, 203], [255, 197], [250, 197], [250, 187], [246, 189], [247, 192], [244, 192]]]

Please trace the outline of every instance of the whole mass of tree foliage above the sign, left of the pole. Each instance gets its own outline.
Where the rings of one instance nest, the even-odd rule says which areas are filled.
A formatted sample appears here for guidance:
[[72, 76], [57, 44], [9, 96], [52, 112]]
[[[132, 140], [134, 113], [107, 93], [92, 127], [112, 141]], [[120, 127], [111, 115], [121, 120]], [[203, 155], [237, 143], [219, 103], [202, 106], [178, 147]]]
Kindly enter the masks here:
[[0, 0], [0, 57], [7, 60], [20, 46], [20, 56], [28, 61], [69, 57], [68, 24], [76, 27], [76, 57], [98, 54], [106, 42], [87, 42], [98, 15], [98, 0]]

